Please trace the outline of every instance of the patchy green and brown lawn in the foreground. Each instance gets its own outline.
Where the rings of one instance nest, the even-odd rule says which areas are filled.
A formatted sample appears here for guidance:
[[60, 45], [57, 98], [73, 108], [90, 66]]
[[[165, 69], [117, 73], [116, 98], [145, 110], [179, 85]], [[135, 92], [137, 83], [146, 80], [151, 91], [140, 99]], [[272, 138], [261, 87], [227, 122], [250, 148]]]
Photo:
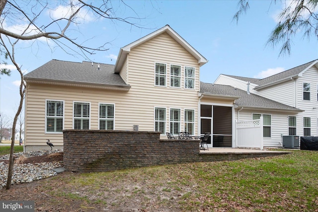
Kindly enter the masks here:
[[53, 177], [41, 191], [65, 204], [80, 201], [83, 211], [317, 212], [318, 151], [291, 151], [239, 161], [69, 173]]

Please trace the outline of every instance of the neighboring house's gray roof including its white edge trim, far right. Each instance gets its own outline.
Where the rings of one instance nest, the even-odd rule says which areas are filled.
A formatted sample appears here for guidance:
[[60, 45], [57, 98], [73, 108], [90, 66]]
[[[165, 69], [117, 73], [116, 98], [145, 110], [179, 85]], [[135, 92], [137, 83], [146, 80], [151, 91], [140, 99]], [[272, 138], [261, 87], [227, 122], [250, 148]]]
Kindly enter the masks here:
[[263, 79], [234, 76], [234, 75], [227, 75], [227, 74], [223, 74], [223, 75], [229, 76], [229, 77], [232, 77], [235, 79], [239, 79], [239, 80], [242, 80], [245, 82], [249, 81], [253, 84], [257, 84], [258, 86], [256, 86], [254, 89], [258, 90], [258, 89], [262, 89], [262, 88], [265, 88], [265, 87], [268, 87], [271, 85], [282, 83], [284, 81], [288, 81], [291, 78], [300, 77], [305, 71], [307, 71], [308, 69], [310, 69], [313, 66], [316, 66], [318, 69], [318, 60], [311, 61], [309, 63], [306, 63], [306, 64], [303, 64], [301, 66], [274, 74], [272, 76], [268, 76], [268, 77], [263, 78]]

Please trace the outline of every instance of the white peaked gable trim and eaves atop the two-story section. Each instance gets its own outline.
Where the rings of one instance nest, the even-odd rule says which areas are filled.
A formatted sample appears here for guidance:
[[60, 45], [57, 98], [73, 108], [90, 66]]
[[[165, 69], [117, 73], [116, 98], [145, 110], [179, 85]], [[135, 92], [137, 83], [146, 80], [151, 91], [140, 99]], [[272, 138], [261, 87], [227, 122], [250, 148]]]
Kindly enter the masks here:
[[165, 25], [164, 27], [158, 29], [157, 31], [150, 33], [149, 35], [146, 35], [145, 37], [142, 37], [138, 39], [137, 41], [134, 41], [131, 44], [128, 44], [127, 46], [122, 47], [119, 50], [118, 58], [115, 65], [115, 73], [119, 73], [120, 70], [123, 67], [123, 64], [127, 58], [127, 55], [129, 54], [130, 50], [135, 48], [136, 46], [139, 46], [150, 39], [153, 39], [154, 37], [166, 32], [168, 35], [170, 35], [177, 43], [179, 43], [184, 49], [186, 49], [193, 57], [195, 57], [198, 60], [199, 66], [202, 66], [208, 62], [207, 59], [205, 59], [199, 52], [197, 52], [190, 44], [188, 44], [178, 33], [176, 33], [169, 25]]

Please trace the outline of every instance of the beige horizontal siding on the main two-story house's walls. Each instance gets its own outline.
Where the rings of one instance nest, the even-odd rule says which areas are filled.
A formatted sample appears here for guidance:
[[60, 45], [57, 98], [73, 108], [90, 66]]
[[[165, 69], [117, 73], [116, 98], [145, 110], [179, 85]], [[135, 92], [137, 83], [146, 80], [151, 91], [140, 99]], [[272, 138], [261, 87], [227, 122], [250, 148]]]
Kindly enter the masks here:
[[[167, 64], [167, 86], [155, 86], [155, 63]], [[128, 66], [129, 64], [129, 66]], [[170, 64], [181, 65], [181, 88], [171, 88]], [[195, 89], [184, 88], [184, 66], [195, 67]], [[64, 129], [73, 129], [73, 101], [90, 102], [90, 129], [98, 129], [98, 103], [115, 104], [115, 130], [154, 131], [155, 107], [166, 108], [166, 132], [169, 131], [169, 109], [181, 109], [181, 130], [184, 129], [184, 109], [195, 111], [195, 134], [198, 133], [198, 61], [168, 34], [134, 48], [121, 70], [128, 80], [129, 91], [115, 91], [72, 86], [54, 86], [31, 83], [26, 94], [26, 145], [46, 145], [50, 139], [55, 145], [63, 145], [63, 134], [45, 134], [45, 100], [65, 102]], [[162, 135], [162, 138], [166, 138]]]

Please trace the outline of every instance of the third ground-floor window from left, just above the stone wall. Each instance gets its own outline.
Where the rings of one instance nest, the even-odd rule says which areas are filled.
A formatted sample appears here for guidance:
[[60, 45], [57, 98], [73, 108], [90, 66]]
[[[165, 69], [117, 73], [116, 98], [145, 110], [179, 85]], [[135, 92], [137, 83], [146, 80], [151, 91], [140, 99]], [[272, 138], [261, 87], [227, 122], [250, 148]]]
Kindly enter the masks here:
[[99, 130], [114, 130], [113, 104], [99, 104]]

